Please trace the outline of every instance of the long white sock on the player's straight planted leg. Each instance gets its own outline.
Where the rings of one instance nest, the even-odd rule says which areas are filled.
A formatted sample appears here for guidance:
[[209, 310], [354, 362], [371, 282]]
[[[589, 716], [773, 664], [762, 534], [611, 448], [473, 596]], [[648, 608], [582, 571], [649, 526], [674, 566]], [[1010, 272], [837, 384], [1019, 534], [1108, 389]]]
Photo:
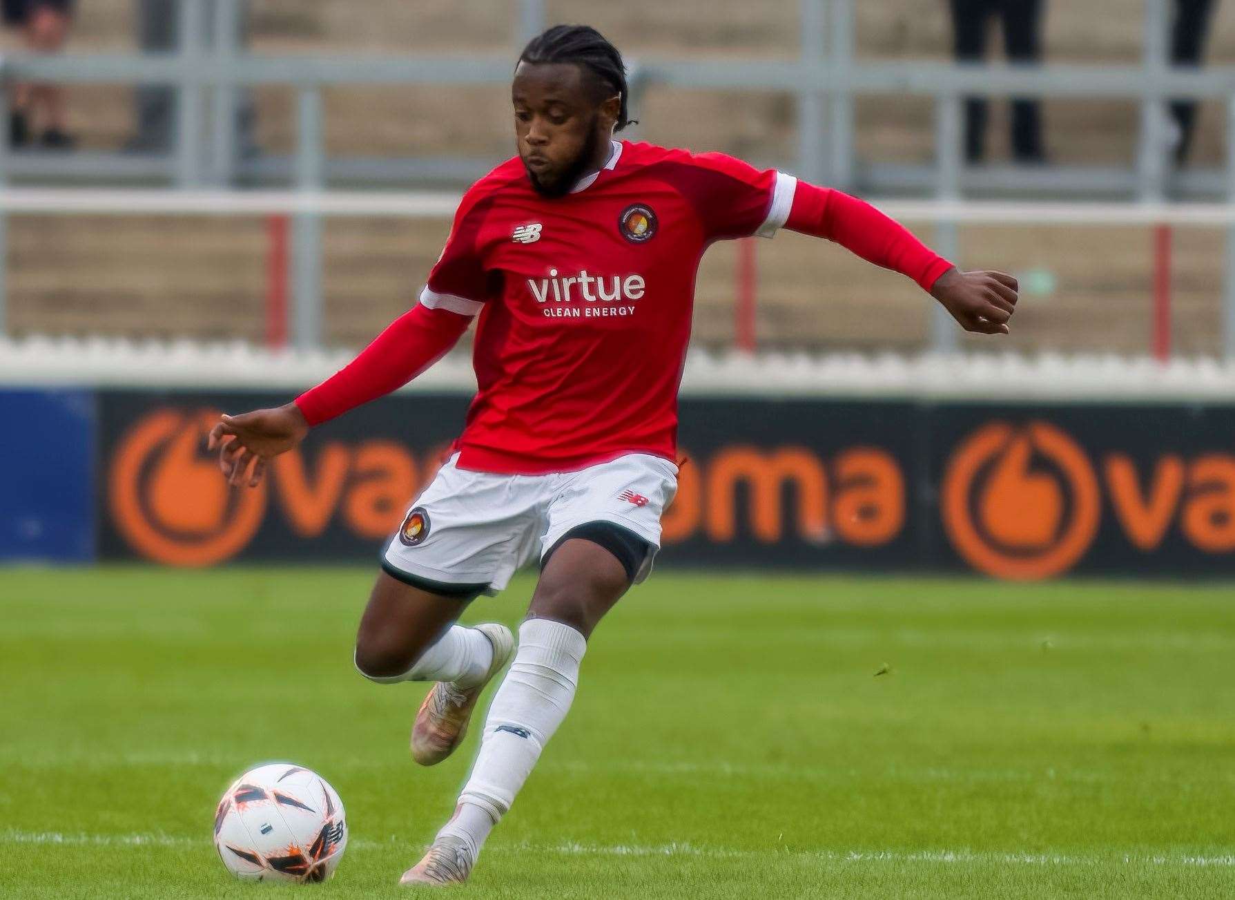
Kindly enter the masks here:
[[472, 776], [438, 836], [459, 837], [479, 853], [566, 718], [587, 648], [583, 635], [561, 622], [529, 619], [519, 628], [519, 652], [489, 706]]

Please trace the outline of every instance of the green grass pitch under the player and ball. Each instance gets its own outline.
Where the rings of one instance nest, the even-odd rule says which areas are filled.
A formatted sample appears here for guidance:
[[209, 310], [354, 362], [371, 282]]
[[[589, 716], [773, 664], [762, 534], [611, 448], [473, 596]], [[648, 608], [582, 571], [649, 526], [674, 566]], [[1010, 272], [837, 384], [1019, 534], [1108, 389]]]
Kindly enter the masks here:
[[[231, 881], [210, 826], [230, 778], [291, 759], [352, 841], [295, 890], [406, 896], [474, 734], [411, 763], [424, 687], [351, 668], [371, 579], [0, 570], [0, 894], [282, 896]], [[516, 622], [531, 584], [466, 618]], [[1233, 896], [1235, 591], [658, 574], [456, 893]]]

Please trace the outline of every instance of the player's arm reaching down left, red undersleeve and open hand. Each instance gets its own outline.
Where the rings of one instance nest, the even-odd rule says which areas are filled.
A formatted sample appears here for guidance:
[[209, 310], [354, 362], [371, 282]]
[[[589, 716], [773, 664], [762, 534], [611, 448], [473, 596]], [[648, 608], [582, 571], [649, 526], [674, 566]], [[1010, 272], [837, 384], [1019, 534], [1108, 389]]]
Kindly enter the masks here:
[[359, 356], [295, 402], [224, 415], [210, 431], [209, 448], [217, 448], [227, 483], [257, 486], [267, 462], [304, 440], [310, 428], [403, 387], [454, 346], [469, 321], [448, 309], [414, 307]]

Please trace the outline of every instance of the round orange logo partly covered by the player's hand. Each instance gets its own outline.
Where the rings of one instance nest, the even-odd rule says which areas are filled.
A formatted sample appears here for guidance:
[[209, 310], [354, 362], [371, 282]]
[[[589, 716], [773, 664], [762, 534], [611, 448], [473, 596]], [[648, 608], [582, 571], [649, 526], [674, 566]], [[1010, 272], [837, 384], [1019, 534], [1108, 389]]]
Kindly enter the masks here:
[[205, 566], [240, 551], [266, 513], [266, 485], [232, 490], [205, 452], [216, 410], [157, 409], [121, 439], [107, 473], [111, 518], [146, 556]]

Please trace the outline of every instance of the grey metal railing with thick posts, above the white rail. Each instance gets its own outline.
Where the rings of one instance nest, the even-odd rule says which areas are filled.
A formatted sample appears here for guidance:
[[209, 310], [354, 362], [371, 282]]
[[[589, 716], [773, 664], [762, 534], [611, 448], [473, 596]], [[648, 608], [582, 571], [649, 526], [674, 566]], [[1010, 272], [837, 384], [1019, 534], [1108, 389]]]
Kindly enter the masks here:
[[[1167, 66], [1168, 0], [1145, 0], [1144, 56], [1139, 64], [960, 66], [940, 62], [874, 62], [853, 52], [855, 0], [800, 0], [797, 59], [658, 59], [631, 56], [632, 105], [652, 85], [682, 89], [767, 90], [792, 94], [798, 105], [797, 158], [763, 159], [803, 178], [874, 193], [916, 193], [941, 203], [987, 190], [1023, 195], [1126, 198], [1235, 197], [1235, 67], [1205, 70]], [[0, 187], [5, 182], [140, 180], [180, 189], [247, 183], [290, 183], [320, 192], [338, 180], [390, 185], [409, 180], [459, 182], [482, 174], [493, 159], [331, 158], [324, 146], [324, 87], [354, 84], [506, 85], [511, 59], [442, 56], [416, 58], [258, 56], [237, 46], [236, 0], [182, 0], [179, 49], [148, 54], [17, 54], [0, 59], [0, 78], [62, 83], [164, 83], [177, 96], [175, 142], [170, 155], [9, 153], [0, 143]], [[942, 15], [942, 10], [940, 12]], [[519, 0], [519, 38], [545, 25], [541, 0]], [[630, 49], [630, 48], [629, 48]], [[296, 143], [290, 158], [235, 158], [238, 88], [291, 87], [298, 91]], [[968, 95], [1125, 99], [1140, 104], [1136, 164], [1110, 167], [967, 166], [962, 155], [962, 103]], [[207, 115], [206, 98], [210, 98]], [[935, 161], [927, 167], [867, 164], [855, 155], [853, 101], [858, 96], [915, 95], [934, 100]], [[1224, 171], [1176, 172], [1170, 162], [1170, 98], [1225, 101], [1228, 158]], [[0, 121], [4, 121], [0, 91]], [[1235, 320], [1235, 229], [1226, 241], [1226, 320]], [[956, 256], [953, 221], [941, 221], [937, 250]], [[301, 342], [320, 336], [320, 214], [294, 214], [291, 283]], [[4, 210], [0, 208], [0, 333], [4, 328]], [[953, 345], [946, 315], [937, 319], [935, 347]], [[1226, 352], [1235, 355], [1235, 335]]]

